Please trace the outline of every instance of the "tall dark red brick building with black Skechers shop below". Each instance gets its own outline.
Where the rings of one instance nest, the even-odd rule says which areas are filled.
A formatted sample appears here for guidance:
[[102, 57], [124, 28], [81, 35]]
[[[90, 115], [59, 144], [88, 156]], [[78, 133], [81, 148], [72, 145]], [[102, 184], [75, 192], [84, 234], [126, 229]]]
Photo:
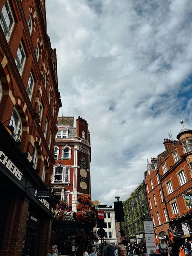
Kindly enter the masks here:
[[61, 107], [56, 63], [56, 50], [46, 32], [45, 1], [0, 1], [3, 256], [43, 256], [49, 250], [52, 202], [37, 199], [36, 194], [51, 185], [55, 162]]

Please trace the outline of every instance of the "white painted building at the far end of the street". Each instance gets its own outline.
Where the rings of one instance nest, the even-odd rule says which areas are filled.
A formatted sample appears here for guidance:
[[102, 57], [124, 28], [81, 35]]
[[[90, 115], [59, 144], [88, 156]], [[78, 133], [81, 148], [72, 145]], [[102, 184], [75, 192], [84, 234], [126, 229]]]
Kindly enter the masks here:
[[[104, 212], [105, 219], [105, 238], [104, 240], [109, 240], [110, 243], [117, 243], [117, 232], [115, 225], [115, 210], [113, 207], [108, 207], [108, 205], [98, 205], [98, 210]], [[98, 228], [96, 227], [96, 231]], [[101, 245], [101, 239], [99, 239], [98, 245]]]

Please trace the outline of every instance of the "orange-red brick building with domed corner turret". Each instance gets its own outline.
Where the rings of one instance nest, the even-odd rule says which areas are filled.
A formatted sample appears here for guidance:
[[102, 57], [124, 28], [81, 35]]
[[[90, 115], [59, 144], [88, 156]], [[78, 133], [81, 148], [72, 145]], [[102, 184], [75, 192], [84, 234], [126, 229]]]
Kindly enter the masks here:
[[147, 160], [145, 186], [157, 239], [171, 233], [182, 241], [182, 223], [192, 234], [192, 130], [183, 126], [179, 141], [164, 139], [165, 151]]

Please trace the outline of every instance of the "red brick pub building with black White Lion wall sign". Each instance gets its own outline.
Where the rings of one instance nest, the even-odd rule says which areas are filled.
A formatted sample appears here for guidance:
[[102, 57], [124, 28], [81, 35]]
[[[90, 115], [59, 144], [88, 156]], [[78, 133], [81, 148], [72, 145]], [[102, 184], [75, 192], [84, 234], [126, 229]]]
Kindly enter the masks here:
[[52, 185], [55, 196], [76, 211], [77, 196], [91, 194], [91, 146], [87, 122], [81, 117], [76, 127], [73, 122], [74, 117], [58, 118]]

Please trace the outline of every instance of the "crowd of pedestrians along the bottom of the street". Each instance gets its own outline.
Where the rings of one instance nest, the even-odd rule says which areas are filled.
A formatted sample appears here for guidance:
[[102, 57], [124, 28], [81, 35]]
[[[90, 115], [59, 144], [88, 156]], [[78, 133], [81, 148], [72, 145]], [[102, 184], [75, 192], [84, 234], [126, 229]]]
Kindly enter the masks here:
[[[192, 240], [185, 239], [180, 245], [175, 238], [164, 240], [156, 244], [156, 252], [162, 256], [192, 256]], [[181, 253], [183, 252], [183, 253]], [[59, 256], [57, 245], [51, 246], [47, 256]], [[142, 243], [128, 243], [127, 245], [115, 244], [105, 241], [105, 245], [100, 251], [96, 246], [88, 247], [84, 243], [80, 243], [75, 249], [75, 256], [148, 256], [146, 245]]]

